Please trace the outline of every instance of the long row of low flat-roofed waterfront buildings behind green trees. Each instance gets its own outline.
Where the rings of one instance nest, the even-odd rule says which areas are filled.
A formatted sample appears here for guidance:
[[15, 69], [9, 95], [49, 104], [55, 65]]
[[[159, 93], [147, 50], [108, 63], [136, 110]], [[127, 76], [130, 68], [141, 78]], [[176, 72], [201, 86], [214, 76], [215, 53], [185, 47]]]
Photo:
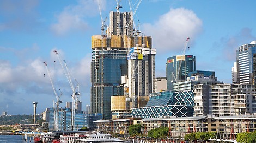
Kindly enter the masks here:
[[95, 130], [105, 133], [127, 135], [130, 125], [141, 124], [143, 135], [147, 135], [151, 129], [168, 127], [168, 137], [182, 137], [196, 132], [217, 132], [216, 139], [235, 140], [238, 133], [256, 131], [256, 115], [240, 116], [192, 116], [176, 117], [162, 116], [160, 118], [144, 119], [115, 119], [94, 121]]

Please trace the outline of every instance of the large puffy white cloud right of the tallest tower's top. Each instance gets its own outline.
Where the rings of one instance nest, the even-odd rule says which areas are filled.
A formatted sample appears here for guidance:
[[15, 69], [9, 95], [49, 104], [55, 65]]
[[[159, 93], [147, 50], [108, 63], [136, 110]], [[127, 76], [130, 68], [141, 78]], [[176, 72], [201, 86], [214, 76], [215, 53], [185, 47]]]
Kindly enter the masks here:
[[158, 54], [168, 51], [181, 51], [187, 37], [192, 40], [202, 31], [202, 21], [192, 10], [170, 9], [153, 24], [142, 25], [145, 35], [152, 36], [153, 47]]

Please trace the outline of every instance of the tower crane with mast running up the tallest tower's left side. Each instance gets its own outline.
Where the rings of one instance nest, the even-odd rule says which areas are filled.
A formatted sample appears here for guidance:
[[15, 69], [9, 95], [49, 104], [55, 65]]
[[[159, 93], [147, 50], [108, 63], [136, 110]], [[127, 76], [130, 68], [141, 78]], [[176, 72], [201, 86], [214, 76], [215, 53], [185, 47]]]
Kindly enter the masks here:
[[105, 22], [107, 20], [107, 17], [105, 20], [102, 18], [101, 14], [101, 7], [100, 7], [100, 0], [97, 0], [98, 5], [99, 5], [99, 10], [100, 10], [100, 17], [101, 17], [101, 114], [102, 117], [104, 118], [104, 31], [107, 25], [105, 25]]

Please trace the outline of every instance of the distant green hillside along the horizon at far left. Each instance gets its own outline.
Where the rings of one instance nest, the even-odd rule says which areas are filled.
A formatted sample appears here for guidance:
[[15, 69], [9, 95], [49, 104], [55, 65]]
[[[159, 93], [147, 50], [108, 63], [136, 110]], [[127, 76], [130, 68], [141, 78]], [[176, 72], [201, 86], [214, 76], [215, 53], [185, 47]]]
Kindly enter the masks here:
[[[36, 115], [36, 120], [40, 120], [42, 115]], [[0, 116], [0, 125], [14, 125], [14, 124], [33, 124], [33, 115], [7, 115]]]

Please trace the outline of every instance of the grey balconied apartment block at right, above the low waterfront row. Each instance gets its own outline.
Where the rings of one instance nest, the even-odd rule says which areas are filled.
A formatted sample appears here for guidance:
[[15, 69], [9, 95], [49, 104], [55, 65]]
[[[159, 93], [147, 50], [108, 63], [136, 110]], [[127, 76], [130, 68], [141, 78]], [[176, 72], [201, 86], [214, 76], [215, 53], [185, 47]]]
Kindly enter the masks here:
[[256, 113], [256, 86], [198, 84], [194, 86], [194, 116], [216, 117]]

